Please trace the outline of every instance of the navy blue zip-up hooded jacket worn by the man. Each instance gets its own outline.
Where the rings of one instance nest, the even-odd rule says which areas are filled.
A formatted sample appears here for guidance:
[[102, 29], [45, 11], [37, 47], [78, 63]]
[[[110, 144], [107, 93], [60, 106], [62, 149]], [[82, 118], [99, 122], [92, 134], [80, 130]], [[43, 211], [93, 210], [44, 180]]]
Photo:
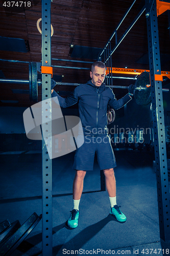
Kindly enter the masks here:
[[53, 91], [52, 97], [56, 96], [62, 108], [79, 103], [79, 115], [85, 136], [106, 136], [107, 106], [109, 105], [110, 108], [117, 110], [131, 100], [129, 94], [116, 100], [113, 91], [111, 88], [106, 87], [105, 83], [102, 83], [100, 87], [96, 87], [92, 81], [80, 84], [66, 98], [62, 98]]

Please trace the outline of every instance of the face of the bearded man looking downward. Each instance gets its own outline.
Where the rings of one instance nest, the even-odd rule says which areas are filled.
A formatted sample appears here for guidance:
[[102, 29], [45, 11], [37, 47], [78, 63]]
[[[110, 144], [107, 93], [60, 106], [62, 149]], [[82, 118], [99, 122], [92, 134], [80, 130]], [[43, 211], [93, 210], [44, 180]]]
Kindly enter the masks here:
[[105, 79], [105, 68], [94, 67], [93, 72], [90, 71], [90, 77], [94, 86], [100, 87]]

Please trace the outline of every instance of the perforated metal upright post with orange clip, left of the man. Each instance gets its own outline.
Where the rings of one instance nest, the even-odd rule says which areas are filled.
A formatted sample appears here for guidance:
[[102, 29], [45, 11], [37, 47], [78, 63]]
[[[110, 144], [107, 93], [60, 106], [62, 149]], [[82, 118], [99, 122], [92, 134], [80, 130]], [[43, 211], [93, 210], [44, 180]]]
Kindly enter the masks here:
[[[42, 66], [51, 67], [51, 0], [42, 0]], [[42, 67], [41, 67], [42, 72]], [[42, 255], [52, 256], [51, 77], [42, 73]]]

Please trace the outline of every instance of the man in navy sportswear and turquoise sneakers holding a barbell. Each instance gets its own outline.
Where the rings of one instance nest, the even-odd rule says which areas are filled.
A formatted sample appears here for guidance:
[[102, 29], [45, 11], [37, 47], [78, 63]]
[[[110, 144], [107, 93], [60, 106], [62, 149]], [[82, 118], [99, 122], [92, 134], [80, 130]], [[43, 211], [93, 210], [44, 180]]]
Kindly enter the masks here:
[[[79, 202], [83, 191], [83, 181], [87, 171], [92, 170], [94, 154], [98, 157], [100, 169], [103, 169], [106, 188], [110, 199], [110, 214], [120, 222], [126, 221], [126, 216], [120, 211], [116, 203], [116, 184], [113, 168], [116, 166], [110, 138], [107, 134], [107, 107], [112, 109], [122, 108], [132, 99], [135, 91], [134, 85], [129, 87], [129, 93], [116, 100], [112, 90], [103, 82], [106, 74], [106, 66], [101, 61], [92, 64], [91, 81], [80, 84], [74, 92], [66, 98], [60, 97], [52, 86], [52, 97], [59, 100], [60, 106], [67, 108], [79, 103], [79, 114], [82, 122], [84, 143], [75, 154], [74, 169], [76, 175], [73, 183], [73, 209], [67, 225], [71, 228], [78, 226]], [[55, 100], [55, 99], [54, 99]]]

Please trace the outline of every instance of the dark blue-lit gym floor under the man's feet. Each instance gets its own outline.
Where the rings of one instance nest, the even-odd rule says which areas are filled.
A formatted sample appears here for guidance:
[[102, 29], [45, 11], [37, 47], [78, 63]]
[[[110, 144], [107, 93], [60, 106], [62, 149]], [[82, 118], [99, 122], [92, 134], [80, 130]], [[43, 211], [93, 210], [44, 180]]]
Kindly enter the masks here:
[[[159, 235], [153, 152], [114, 153], [117, 204], [127, 221], [119, 223], [109, 214], [107, 191], [99, 191], [100, 169], [95, 159], [93, 171], [85, 176], [76, 229], [65, 224], [72, 209], [74, 153], [53, 159], [53, 255], [78, 254], [75, 250], [79, 249], [79, 255], [170, 254], [170, 242], [165, 243]], [[0, 222], [8, 219], [23, 224], [34, 211], [41, 214], [41, 153], [6, 152], [0, 159]], [[41, 232], [40, 221], [11, 255], [41, 255]]]

